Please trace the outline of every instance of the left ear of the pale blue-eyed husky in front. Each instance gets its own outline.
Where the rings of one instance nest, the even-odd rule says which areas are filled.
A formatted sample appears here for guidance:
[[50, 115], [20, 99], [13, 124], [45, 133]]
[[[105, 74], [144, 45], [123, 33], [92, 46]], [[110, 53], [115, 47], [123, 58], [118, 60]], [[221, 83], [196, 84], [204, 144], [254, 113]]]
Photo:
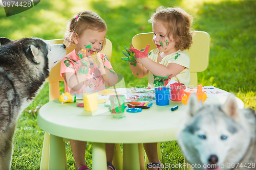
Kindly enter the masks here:
[[191, 93], [189, 95], [188, 99], [188, 115], [189, 116], [195, 116], [197, 114], [197, 111], [202, 107], [202, 102], [198, 101], [197, 95], [194, 93]]

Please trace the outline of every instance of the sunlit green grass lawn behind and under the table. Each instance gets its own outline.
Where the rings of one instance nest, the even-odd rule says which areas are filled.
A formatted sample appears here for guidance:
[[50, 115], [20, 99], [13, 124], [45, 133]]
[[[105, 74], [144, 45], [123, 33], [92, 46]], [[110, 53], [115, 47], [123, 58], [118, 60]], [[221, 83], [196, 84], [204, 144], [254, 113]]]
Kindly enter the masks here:
[[[76, 4], [74, 3], [76, 2]], [[76, 12], [97, 12], [108, 25], [107, 38], [113, 43], [112, 66], [122, 72], [126, 86], [145, 86], [147, 78], [132, 75], [129, 63], [122, 61], [122, 50], [138, 33], [152, 32], [147, 23], [159, 6], [178, 6], [194, 16], [194, 30], [211, 36], [209, 67], [199, 72], [203, 86], [214, 85], [232, 92], [246, 108], [256, 107], [256, 1], [220, 0], [98, 0], [98, 1], [40, 1], [34, 8], [6, 17], [0, 7], [0, 35], [10, 39], [39, 37], [63, 38], [67, 21]], [[127, 71], [123, 71], [126, 69]], [[61, 84], [60, 92], [63, 91]], [[35, 109], [49, 101], [48, 84], [26, 109]], [[14, 135], [12, 169], [39, 169], [44, 131], [37, 126], [37, 115], [23, 112]], [[178, 164], [183, 156], [175, 141], [162, 142], [162, 163]], [[66, 145], [68, 169], [75, 169], [70, 145]], [[92, 163], [92, 143], [88, 142], [86, 160]]]

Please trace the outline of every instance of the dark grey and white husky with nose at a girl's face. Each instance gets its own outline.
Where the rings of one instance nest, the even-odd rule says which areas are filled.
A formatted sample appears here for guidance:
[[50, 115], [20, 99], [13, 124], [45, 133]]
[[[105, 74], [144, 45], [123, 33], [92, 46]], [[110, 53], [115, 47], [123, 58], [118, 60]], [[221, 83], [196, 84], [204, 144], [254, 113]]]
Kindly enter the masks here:
[[39, 38], [0, 38], [0, 43], [0, 169], [10, 169], [18, 116], [65, 57], [66, 47]]

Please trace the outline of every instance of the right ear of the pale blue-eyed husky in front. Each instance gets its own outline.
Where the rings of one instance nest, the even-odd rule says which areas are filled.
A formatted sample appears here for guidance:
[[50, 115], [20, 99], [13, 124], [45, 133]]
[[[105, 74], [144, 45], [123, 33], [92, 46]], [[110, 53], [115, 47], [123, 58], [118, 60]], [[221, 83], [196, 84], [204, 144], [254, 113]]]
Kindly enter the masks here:
[[232, 117], [236, 122], [239, 122], [238, 105], [233, 94], [228, 96], [228, 99], [223, 105], [222, 110], [224, 113], [226, 113], [226, 115]]

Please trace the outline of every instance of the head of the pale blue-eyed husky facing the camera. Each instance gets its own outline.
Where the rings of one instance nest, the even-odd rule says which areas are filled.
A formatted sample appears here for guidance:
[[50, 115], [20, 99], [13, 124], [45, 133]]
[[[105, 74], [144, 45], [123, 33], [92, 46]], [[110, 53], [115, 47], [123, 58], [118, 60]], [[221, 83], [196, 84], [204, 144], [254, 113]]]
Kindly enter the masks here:
[[195, 94], [191, 94], [187, 109], [177, 133], [186, 160], [197, 164], [195, 169], [231, 169], [230, 165], [242, 159], [250, 143], [244, 115], [249, 110], [240, 110], [233, 95], [224, 105], [202, 106]]

